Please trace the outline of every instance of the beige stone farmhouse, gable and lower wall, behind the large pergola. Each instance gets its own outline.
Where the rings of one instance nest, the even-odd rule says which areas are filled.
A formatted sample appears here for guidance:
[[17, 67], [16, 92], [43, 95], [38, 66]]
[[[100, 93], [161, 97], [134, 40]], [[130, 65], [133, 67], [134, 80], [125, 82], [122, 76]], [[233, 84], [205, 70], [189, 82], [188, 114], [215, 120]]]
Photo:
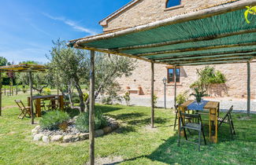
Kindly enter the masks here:
[[[102, 25], [103, 31], [107, 33], [235, 1], [237, 0], [133, 0], [101, 20], [99, 24]], [[138, 61], [138, 63], [140, 67], [135, 69], [130, 77], [119, 79], [119, 83], [124, 91], [130, 90], [131, 93], [147, 95], [150, 94], [150, 63], [145, 61]], [[255, 97], [256, 92], [255, 65], [255, 63], [250, 64], [252, 98]], [[227, 78], [227, 83], [212, 86], [210, 93], [214, 97], [247, 97], [247, 64], [217, 64], [210, 66], [221, 71]], [[177, 94], [184, 90], [189, 90], [191, 83], [194, 83], [197, 79], [196, 68], [204, 67], [187, 66], [177, 68]], [[155, 64], [154, 92], [158, 96], [164, 93], [164, 85], [162, 83], [164, 77], [168, 79], [166, 94], [168, 96], [174, 95], [173, 70], [173, 66]]]

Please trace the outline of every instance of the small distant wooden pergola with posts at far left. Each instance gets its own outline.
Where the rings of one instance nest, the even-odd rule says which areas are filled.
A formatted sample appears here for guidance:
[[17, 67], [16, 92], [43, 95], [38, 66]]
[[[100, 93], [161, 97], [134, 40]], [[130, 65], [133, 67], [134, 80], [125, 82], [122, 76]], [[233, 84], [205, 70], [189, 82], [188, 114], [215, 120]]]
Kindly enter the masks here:
[[[33, 115], [33, 92], [32, 92], [32, 72], [45, 72], [46, 67], [39, 64], [14, 64], [8, 66], [0, 67], [0, 79], [2, 72], [28, 72], [29, 73], [29, 86], [30, 86], [30, 110], [32, 114], [32, 124], [34, 124], [34, 115]], [[0, 81], [0, 116], [2, 116], [2, 81]]]

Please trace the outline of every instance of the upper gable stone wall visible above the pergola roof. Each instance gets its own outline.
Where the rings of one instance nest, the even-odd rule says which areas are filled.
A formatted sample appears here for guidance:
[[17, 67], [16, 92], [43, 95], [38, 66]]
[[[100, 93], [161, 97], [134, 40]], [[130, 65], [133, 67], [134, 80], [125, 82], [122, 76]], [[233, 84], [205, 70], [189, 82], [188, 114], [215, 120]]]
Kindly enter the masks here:
[[121, 27], [133, 27], [157, 20], [164, 20], [170, 16], [176, 16], [195, 11], [196, 9], [207, 8], [230, 1], [231, 0], [181, 0], [181, 6], [166, 9], [166, 0], [140, 0], [134, 6], [109, 19], [106, 26], [103, 26], [103, 31]]

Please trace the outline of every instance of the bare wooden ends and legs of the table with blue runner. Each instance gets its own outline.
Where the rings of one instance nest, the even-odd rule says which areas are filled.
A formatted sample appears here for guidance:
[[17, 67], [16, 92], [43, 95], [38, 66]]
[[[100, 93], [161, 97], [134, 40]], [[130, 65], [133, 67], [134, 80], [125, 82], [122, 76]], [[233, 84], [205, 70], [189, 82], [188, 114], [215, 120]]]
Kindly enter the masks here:
[[[192, 110], [192, 109], [187, 109], [187, 106], [190, 105], [193, 101], [189, 100], [184, 102], [184, 104], [179, 105], [178, 112], [179, 112], [179, 121], [180, 121], [180, 111], [185, 112], [187, 110]], [[204, 106], [204, 111], [208, 110], [209, 111], [209, 138], [210, 141], [213, 143], [217, 143], [217, 117], [219, 116], [219, 107], [220, 107], [220, 102], [217, 101], [208, 101], [206, 105]], [[197, 110], [197, 109], [194, 109]], [[212, 133], [212, 130], [215, 126], [214, 134]], [[179, 122], [179, 128], [180, 128], [180, 122]], [[180, 129], [179, 129], [180, 131]]]

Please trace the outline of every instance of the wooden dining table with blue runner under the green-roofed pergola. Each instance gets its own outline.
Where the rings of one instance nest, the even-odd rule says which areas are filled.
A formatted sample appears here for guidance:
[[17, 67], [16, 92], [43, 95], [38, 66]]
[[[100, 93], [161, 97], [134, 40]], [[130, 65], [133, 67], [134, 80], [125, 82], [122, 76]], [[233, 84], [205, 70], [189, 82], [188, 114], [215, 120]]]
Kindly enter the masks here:
[[[218, 101], [202, 101], [200, 104], [196, 101], [188, 100], [184, 104], [179, 105], [179, 121], [180, 121], [180, 111], [186, 112], [187, 110], [206, 112], [204, 114], [209, 114], [209, 138], [213, 143], [217, 143], [217, 117], [219, 116], [220, 102]], [[179, 122], [180, 128], [180, 122]], [[215, 128], [215, 129], [213, 129]], [[212, 133], [213, 130], [213, 133]], [[180, 131], [180, 129], [179, 129]], [[184, 135], [184, 133], [182, 132]]]

